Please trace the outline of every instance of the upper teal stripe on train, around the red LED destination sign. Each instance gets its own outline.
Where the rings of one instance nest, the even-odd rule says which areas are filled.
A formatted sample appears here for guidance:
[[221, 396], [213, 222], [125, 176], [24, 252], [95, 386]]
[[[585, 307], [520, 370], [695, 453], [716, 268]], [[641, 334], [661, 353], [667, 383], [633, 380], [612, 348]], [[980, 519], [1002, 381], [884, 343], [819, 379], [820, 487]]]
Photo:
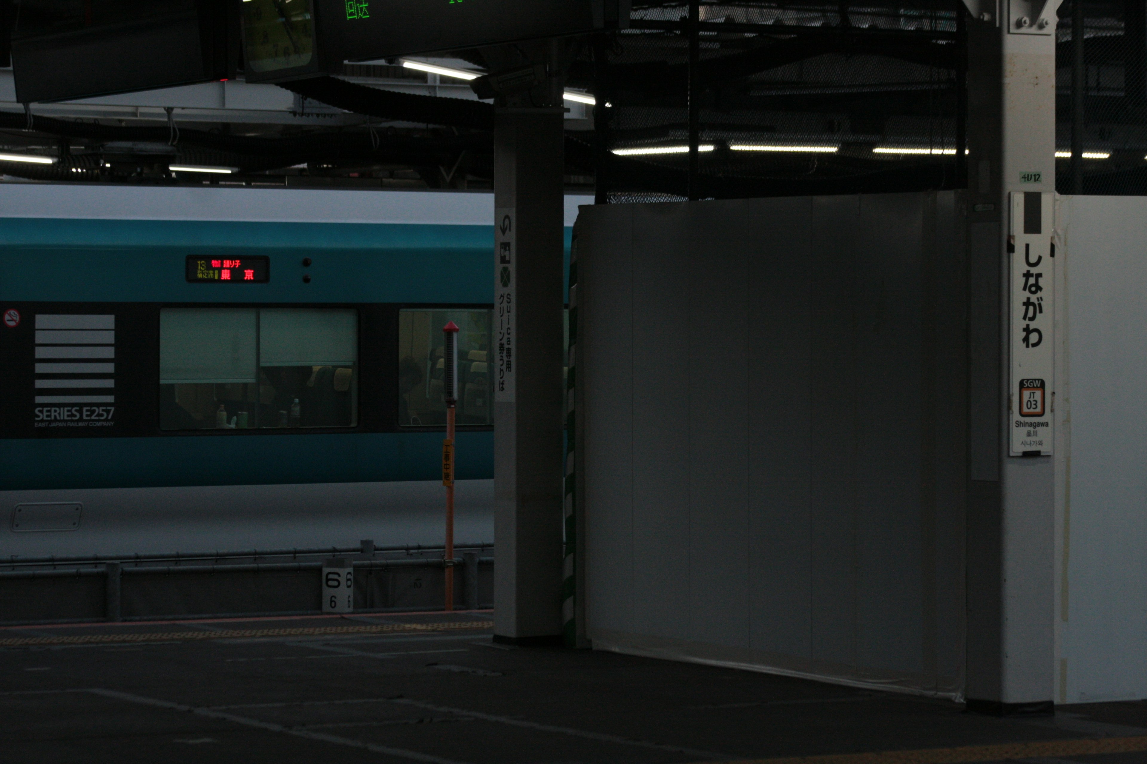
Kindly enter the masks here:
[[[565, 229], [569, 251], [570, 229]], [[0, 219], [0, 299], [493, 302], [493, 226]], [[271, 282], [188, 284], [188, 254], [266, 254]], [[303, 258], [311, 283], [304, 284]]]

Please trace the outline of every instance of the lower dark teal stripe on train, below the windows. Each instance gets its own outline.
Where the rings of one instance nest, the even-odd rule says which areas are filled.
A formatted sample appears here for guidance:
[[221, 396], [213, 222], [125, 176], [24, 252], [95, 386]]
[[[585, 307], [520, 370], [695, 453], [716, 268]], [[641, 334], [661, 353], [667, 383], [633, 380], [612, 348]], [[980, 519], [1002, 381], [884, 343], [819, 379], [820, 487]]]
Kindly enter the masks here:
[[[458, 434], [459, 480], [493, 478], [493, 440]], [[0, 490], [439, 480], [442, 433], [0, 440]]]

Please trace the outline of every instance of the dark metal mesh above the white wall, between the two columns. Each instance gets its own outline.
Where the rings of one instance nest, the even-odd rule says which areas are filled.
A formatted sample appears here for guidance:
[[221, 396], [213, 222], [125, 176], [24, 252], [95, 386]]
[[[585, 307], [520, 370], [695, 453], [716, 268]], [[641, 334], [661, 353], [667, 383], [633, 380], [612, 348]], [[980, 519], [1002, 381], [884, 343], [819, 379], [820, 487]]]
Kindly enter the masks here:
[[[958, 186], [955, 8], [702, 2], [700, 196]], [[599, 49], [610, 200], [686, 192], [686, 14], [637, 7]]]

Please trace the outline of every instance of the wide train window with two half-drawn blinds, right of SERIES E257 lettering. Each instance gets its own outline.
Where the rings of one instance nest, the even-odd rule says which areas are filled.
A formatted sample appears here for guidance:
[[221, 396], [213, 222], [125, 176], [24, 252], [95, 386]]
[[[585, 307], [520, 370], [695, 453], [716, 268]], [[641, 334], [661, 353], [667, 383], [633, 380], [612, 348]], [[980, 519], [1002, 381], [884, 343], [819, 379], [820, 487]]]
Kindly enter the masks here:
[[163, 430], [353, 427], [358, 312], [164, 308]]

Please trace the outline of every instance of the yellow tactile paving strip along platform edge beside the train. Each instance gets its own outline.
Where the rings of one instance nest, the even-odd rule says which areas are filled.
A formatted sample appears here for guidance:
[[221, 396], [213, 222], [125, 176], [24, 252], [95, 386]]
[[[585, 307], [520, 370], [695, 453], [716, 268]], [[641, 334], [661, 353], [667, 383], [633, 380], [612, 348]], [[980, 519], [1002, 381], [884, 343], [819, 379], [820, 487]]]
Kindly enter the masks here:
[[225, 629], [219, 631], [150, 631], [134, 633], [53, 635], [50, 637], [0, 638], [0, 647], [41, 645], [89, 645], [100, 643], [184, 641], [190, 639], [243, 639], [250, 637], [330, 637], [389, 632], [435, 632], [460, 629], [492, 629], [493, 621], [443, 621], [437, 623], [380, 623], [361, 627], [296, 627], [290, 629]]

